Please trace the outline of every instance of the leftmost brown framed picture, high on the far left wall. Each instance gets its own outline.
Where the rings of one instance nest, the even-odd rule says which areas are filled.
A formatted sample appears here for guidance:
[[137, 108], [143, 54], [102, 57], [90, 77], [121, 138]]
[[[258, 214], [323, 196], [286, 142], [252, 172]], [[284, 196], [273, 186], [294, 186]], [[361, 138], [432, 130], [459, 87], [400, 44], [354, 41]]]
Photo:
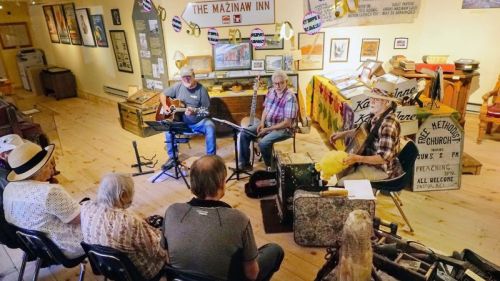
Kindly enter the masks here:
[[1, 23], [0, 43], [4, 49], [31, 47], [31, 37], [25, 22]]

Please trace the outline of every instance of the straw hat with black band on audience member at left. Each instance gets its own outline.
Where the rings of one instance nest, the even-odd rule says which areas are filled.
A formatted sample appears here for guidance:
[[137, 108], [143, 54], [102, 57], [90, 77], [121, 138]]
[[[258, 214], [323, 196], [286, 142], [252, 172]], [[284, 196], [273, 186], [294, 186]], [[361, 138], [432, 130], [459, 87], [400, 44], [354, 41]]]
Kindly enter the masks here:
[[9, 154], [9, 165], [12, 171], [7, 175], [8, 181], [25, 180], [38, 172], [49, 161], [54, 152], [54, 145], [45, 149], [32, 142], [25, 142], [14, 148]]

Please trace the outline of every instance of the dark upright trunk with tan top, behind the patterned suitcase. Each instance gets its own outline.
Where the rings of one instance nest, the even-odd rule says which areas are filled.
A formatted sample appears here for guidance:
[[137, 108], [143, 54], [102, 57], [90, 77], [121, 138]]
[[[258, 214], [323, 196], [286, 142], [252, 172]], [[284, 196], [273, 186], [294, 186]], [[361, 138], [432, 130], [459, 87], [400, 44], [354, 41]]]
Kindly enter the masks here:
[[278, 172], [278, 195], [276, 205], [281, 223], [291, 223], [293, 216], [293, 193], [299, 186], [310, 187], [310, 191], [320, 191], [319, 172], [308, 153], [288, 153], [276, 151]]

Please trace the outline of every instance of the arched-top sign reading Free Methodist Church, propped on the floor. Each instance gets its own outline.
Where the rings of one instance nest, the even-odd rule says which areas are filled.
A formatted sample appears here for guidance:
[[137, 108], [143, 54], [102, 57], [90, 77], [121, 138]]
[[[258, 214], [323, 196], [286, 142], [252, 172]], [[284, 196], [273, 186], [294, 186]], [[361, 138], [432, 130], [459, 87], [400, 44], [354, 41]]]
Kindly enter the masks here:
[[416, 135], [413, 191], [460, 188], [464, 132], [451, 116], [431, 116]]

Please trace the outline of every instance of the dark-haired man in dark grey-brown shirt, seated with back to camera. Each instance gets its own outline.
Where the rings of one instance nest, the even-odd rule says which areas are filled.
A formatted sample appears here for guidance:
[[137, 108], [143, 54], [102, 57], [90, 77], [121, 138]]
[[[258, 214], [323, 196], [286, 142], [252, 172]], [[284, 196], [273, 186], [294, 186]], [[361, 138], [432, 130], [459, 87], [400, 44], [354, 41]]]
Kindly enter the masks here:
[[257, 249], [249, 218], [220, 201], [226, 175], [219, 156], [193, 163], [191, 192], [196, 198], [167, 209], [162, 245], [176, 268], [217, 280], [270, 280], [283, 261], [283, 249], [272, 243]]

